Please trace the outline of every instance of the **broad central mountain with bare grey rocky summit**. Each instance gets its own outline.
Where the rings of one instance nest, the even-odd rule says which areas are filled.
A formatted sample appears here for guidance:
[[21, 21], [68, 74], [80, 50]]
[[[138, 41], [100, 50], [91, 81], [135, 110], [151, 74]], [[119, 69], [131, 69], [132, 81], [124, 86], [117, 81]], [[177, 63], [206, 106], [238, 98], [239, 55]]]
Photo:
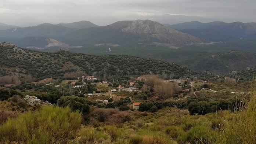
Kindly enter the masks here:
[[202, 40], [150, 20], [119, 21], [108, 26], [91, 27], [69, 33], [62, 37], [69, 44], [85, 45], [95, 43], [206, 43]]

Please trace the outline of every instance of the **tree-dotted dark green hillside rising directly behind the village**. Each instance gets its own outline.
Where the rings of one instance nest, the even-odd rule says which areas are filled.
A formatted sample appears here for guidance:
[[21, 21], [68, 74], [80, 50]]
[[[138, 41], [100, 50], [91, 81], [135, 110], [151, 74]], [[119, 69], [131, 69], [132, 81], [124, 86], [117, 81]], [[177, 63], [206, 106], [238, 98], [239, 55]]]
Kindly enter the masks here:
[[0, 75], [36, 79], [76, 76], [83, 72], [97, 77], [166, 74], [168, 77], [186, 77], [193, 72], [187, 67], [154, 59], [127, 55], [95, 56], [60, 50], [55, 53], [36, 52], [15, 47], [10, 43], [0, 45]]

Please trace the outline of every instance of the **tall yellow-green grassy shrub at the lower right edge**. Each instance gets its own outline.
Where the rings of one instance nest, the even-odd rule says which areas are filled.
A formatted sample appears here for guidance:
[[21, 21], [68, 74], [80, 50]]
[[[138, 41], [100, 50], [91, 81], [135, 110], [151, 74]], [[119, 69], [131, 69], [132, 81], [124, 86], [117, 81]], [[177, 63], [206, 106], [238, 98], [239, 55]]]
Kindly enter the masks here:
[[[254, 87], [255, 89], [255, 87]], [[224, 132], [217, 138], [219, 144], [255, 144], [256, 141], [256, 95], [250, 101], [242, 100], [237, 111], [226, 123]]]

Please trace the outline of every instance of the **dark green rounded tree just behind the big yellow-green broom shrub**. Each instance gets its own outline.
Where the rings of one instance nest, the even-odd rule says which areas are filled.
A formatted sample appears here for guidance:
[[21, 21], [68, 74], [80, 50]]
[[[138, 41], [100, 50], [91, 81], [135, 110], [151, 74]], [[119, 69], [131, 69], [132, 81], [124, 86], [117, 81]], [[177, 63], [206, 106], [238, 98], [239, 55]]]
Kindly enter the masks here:
[[58, 99], [58, 106], [69, 106], [72, 111], [80, 110], [83, 113], [89, 113], [90, 106], [86, 104], [86, 100], [78, 96], [62, 96]]

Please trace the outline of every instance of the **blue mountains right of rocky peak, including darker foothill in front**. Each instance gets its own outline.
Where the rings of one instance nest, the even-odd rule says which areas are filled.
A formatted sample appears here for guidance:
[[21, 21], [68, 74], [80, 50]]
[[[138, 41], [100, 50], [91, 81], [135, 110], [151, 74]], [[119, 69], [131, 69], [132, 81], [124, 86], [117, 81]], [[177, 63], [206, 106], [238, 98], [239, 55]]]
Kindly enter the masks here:
[[[230, 40], [235, 38], [249, 38], [256, 34], [256, 23], [242, 22], [209, 22], [202, 23], [198, 21], [179, 23], [169, 25], [170, 27], [181, 30], [184, 33], [191, 34], [207, 40]], [[219, 38], [216, 38], [220, 36]]]

